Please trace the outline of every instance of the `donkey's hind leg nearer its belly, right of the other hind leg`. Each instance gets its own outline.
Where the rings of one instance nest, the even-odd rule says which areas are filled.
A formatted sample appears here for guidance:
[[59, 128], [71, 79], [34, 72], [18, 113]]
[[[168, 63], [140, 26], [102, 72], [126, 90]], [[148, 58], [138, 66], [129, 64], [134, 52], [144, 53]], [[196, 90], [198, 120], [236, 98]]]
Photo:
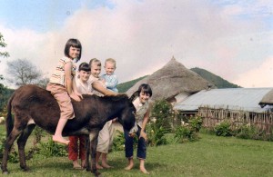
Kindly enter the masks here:
[[24, 171], [29, 170], [25, 163], [25, 143], [28, 139], [28, 136], [32, 133], [34, 128], [35, 128], [35, 124], [29, 124], [28, 126], [26, 126], [25, 130], [23, 131], [23, 133], [21, 133], [20, 137], [17, 140], [20, 167]]

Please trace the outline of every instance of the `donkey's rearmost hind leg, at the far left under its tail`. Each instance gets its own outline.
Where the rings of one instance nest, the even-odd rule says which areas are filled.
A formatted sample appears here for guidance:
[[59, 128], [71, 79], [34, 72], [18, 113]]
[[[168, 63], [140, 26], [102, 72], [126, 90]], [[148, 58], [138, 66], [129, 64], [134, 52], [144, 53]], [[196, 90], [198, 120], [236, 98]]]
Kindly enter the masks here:
[[1, 164], [2, 172], [5, 174], [8, 173], [8, 171], [6, 169], [8, 153], [10, 152], [10, 149], [11, 149], [13, 143], [15, 142], [15, 139], [19, 136], [20, 133], [22, 133], [22, 130], [19, 130], [16, 127], [14, 127], [12, 132], [8, 135], [8, 137], [5, 141], [5, 150], [3, 153], [3, 160], [2, 160], [2, 164]]

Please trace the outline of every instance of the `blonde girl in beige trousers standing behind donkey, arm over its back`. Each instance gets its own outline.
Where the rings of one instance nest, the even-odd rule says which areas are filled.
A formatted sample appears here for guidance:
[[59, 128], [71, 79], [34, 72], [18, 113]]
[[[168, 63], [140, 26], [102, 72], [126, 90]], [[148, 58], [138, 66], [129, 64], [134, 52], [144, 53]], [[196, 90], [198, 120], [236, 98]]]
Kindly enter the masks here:
[[[106, 84], [103, 79], [99, 77], [99, 74], [101, 72], [101, 62], [97, 60], [96, 58], [90, 60], [89, 65], [91, 67], [91, 76], [90, 76], [90, 82], [92, 84], [92, 93], [96, 94], [97, 96], [104, 96], [104, 95], [116, 95], [117, 93], [114, 93], [112, 91], [109, 91], [106, 89]], [[97, 169], [103, 169], [110, 168], [110, 165], [108, 165], [106, 162], [103, 162], [103, 166], [100, 166], [98, 164], [98, 159], [101, 152], [108, 153], [110, 144], [113, 142], [113, 127], [112, 122], [108, 121], [103, 129], [99, 132], [98, 135], [98, 142], [96, 147], [96, 168]], [[99, 153], [99, 154], [98, 154]]]

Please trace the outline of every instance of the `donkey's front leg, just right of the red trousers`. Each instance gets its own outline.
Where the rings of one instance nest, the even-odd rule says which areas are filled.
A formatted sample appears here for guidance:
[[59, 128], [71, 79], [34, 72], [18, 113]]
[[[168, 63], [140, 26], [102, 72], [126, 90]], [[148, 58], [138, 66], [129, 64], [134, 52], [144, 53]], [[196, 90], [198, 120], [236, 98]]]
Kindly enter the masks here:
[[91, 153], [91, 172], [98, 176], [100, 172], [96, 170], [96, 145], [97, 145], [97, 136], [100, 129], [93, 129], [89, 134], [90, 139], [90, 148], [89, 151]]

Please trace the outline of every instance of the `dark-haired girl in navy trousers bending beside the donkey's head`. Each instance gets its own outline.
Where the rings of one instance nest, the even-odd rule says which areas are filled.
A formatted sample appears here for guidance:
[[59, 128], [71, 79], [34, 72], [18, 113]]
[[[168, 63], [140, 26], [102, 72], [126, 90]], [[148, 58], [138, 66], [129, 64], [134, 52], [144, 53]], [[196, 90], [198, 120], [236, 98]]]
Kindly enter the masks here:
[[[136, 157], [139, 159], [139, 170], [143, 173], [148, 173], [145, 168], [145, 160], [147, 155], [147, 133], [145, 132], [145, 129], [149, 119], [150, 106], [148, 100], [152, 96], [152, 89], [148, 84], [141, 84], [138, 87], [136, 94], [138, 97], [136, 97], [136, 100], [133, 101], [133, 104], [136, 107], [136, 125], [134, 129], [132, 129], [134, 132], [136, 132], [138, 137]], [[126, 158], [128, 159], [128, 165], [126, 166], [125, 170], [131, 170], [134, 167], [134, 137], [131, 133], [132, 130], [130, 133], [124, 130], [126, 139]]]

